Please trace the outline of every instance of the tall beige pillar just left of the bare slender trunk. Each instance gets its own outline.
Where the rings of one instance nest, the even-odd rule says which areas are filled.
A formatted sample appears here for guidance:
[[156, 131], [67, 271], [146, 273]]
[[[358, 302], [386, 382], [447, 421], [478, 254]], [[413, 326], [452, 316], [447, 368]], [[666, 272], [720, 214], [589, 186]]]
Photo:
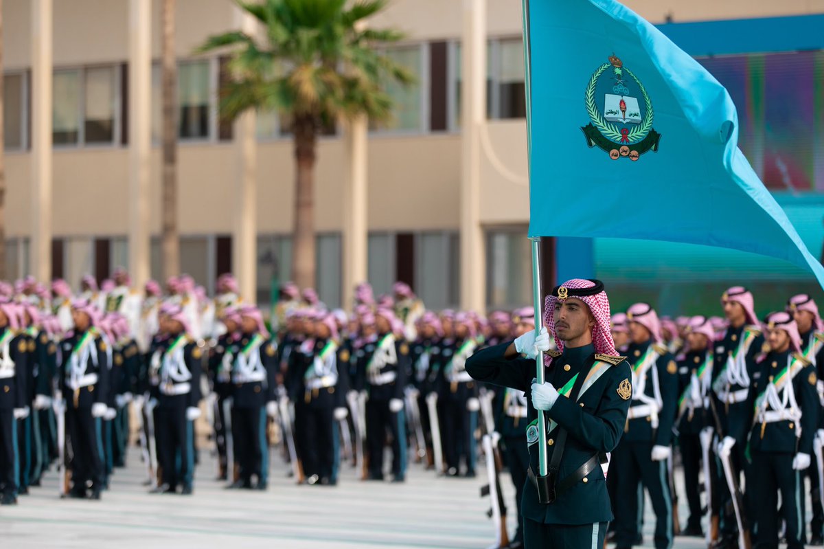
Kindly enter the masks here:
[[136, 288], [152, 272], [152, 0], [129, 0], [129, 271]]

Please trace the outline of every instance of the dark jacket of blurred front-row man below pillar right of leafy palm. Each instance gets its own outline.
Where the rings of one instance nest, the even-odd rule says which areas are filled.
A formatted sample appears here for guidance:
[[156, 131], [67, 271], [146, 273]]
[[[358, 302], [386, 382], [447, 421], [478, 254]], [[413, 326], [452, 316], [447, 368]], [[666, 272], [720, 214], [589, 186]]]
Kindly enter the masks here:
[[[410, 347], [405, 341], [396, 339], [392, 349], [382, 350], [381, 342], [391, 336], [382, 334], [377, 341], [370, 341], [358, 352], [356, 387], [364, 387], [372, 400], [389, 401], [393, 398], [403, 399], [406, 387], [406, 374], [410, 371]], [[383, 356], [377, 356], [383, 353]], [[374, 364], [379, 360], [381, 364]], [[393, 378], [390, 382], [376, 383], [379, 377]]]

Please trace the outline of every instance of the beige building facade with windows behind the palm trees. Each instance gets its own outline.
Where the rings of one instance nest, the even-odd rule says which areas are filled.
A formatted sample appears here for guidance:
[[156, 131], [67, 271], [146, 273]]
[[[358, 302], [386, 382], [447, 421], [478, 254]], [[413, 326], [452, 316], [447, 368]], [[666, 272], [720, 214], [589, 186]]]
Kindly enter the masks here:
[[[134, 8], [140, 2], [150, 6], [141, 12]], [[143, 120], [151, 128], [146, 229], [152, 240], [147, 274], [160, 275], [160, 3], [3, 2], [5, 207], [11, 275], [39, 272], [32, 241], [41, 235], [50, 239], [50, 275], [64, 277], [70, 284], [76, 285], [87, 272], [105, 278], [117, 265], [134, 270], [128, 245], [129, 231], [137, 230], [130, 186], [134, 185], [130, 148], [135, 140], [130, 113], [135, 110], [130, 108], [129, 64], [140, 59], [140, 52], [130, 47], [130, 33], [137, 28], [134, 14], [140, 13], [151, 14], [148, 28], [143, 27], [151, 33], [152, 59], [150, 120]], [[626, 3], [653, 23], [824, 12], [824, 0]], [[44, 15], [38, 15], [34, 4], [50, 11], [50, 55], [35, 57], [35, 45], [44, 44], [35, 40], [38, 29], [44, 28]], [[482, 16], [473, 19], [479, 9]], [[378, 292], [388, 291], [395, 279], [404, 279], [433, 307], [479, 309], [529, 303], [521, 2], [392, 0], [372, 24], [405, 31], [405, 42], [391, 54], [416, 74], [418, 82], [410, 89], [393, 91], [396, 119], [389, 127], [370, 127], [364, 143], [368, 253], [363, 261], [368, 278]], [[477, 24], [483, 26], [483, 35], [475, 44], [486, 48], [467, 51], [462, 45]], [[248, 134], [249, 125], [243, 130], [219, 119], [218, 88], [225, 59], [193, 52], [208, 35], [240, 28], [241, 21], [229, 0], [177, 0], [176, 25], [181, 265], [212, 289], [216, 276], [232, 269], [232, 254], [238, 249], [232, 235], [242, 233], [237, 228], [239, 216], [253, 213], [255, 247], [246, 248], [244, 253], [251, 259], [241, 268], [246, 275], [254, 271], [250, 279], [255, 298], [266, 301], [273, 284], [287, 279], [289, 272], [294, 199], [291, 139], [277, 115], [258, 113], [255, 138], [246, 141], [255, 149], [246, 156], [246, 162], [253, 162], [246, 171], [255, 182], [256, 195], [253, 200], [238, 200], [244, 173], [238, 160], [238, 135]], [[461, 70], [466, 59], [480, 59], [486, 67], [485, 74], [469, 71], [470, 82], [486, 83], [484, 92], [474, 98], [468, 95], [470, 87], [461, 85], [467, 75]], [[44, 62], [52, 65], [52, 146], [46, 155], [50, 157], [46, 186], [41, 185], [42, 175], [36, 173], [40, 168], [35, 170], [33, 162], [34, 154], [42, 158], [44, 152], [33, 148], [37, 143], [44, 146], [43, 140], [38, 141], [38, 128], [49, 124], [33, 123], [36, 116], [32, 116], [38, 98], [43, 99], [34, 89], [32, 75], [35, 65]], [[462, 120], [474, 120], [473, 107], [466, 101], [485, 102], [480, 109], [475, 104], [474, 112], [480, 112], [483, 120], [472, 123], [473, 132], [461, 132]], [[333, 306], [344, 304], [349, 293], [343, 280], [358, 281], [343, 272], [344, 265], [353, 268], [344, 261], [344, 232], [352, 221], [342, 207], [351, 204], [347, 178], [352, 171], [346, 167], [351, 166], [352, 151], [342, 126], [334, 135], [321, 138], [318, 150], [318, 289]], [[467, 155], [476, 162], [467, 162]], [[476, 199], [472, 211], [461, 206], [467, 190]], [[37, 200], [43, 192], [49, 193], [49, 199]], [[45, 209], [34, 204], [45, 204]], [[48, 223], [43, 223], [44, 218]], [[461, 255], [461, 242], [477, 246], [480, 257]], [[473, 295], [461, 294], [467, 284], [474, 284]]]

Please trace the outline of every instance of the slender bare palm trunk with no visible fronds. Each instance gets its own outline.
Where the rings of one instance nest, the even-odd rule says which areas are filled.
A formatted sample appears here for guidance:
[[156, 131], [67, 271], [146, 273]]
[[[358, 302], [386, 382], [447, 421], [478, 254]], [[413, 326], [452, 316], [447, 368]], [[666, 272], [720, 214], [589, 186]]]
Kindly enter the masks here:
[[180, 240], [177, 234], [175, 0], [163, 0], [162, 9], [162, 247], [163, 275], [168, 279], [170, 276], [180, 275]]

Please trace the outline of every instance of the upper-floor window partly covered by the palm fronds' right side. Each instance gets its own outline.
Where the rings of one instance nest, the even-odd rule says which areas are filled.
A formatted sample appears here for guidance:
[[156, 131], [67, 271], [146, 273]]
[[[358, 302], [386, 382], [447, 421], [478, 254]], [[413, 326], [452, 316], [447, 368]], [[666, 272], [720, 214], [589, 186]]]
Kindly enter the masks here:
[[[403, 86], [398, 82], [386, 83], [386, 93], [392, 99], [393, 109], [390, 120], [372, 123], [371, 129], [383, 132], [420, 132], [428, 125], [428, 115], [424, 114], [424, 90], [428, 89], [428, 76], [424, 67], [425, 44], [390, 49], [386, 55], [395, 63], [406, 68], [414, 77], [414, 82]], [[428, 63], [426, 63], [428, 65]]]

